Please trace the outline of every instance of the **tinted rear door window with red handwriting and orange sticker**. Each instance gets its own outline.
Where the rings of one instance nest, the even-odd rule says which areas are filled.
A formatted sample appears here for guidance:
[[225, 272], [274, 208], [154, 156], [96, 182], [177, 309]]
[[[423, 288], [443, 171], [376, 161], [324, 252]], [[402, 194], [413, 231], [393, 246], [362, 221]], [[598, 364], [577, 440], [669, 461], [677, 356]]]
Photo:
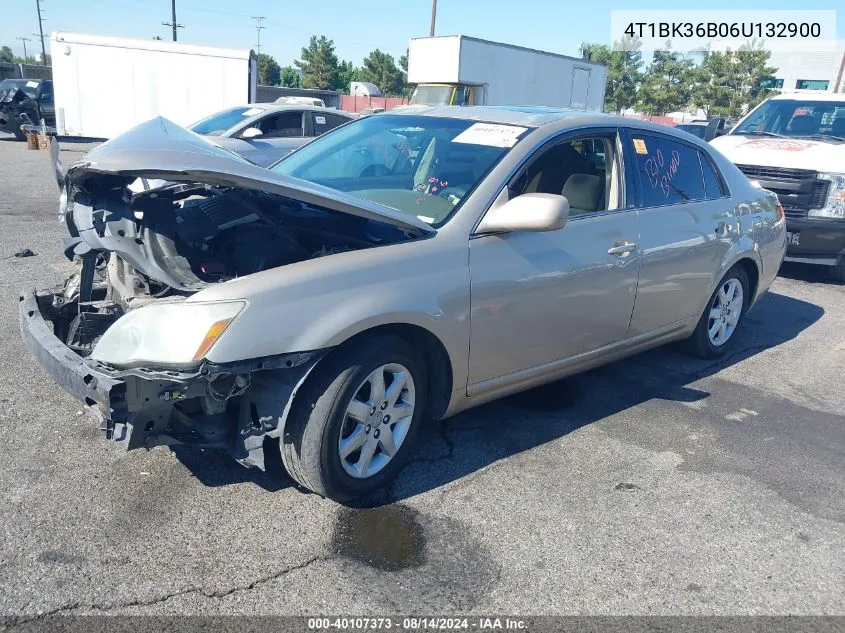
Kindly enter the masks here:
[[642, 206], [659, 207], [707, 198], [698, 150], [662, 136], [632, 130]]

